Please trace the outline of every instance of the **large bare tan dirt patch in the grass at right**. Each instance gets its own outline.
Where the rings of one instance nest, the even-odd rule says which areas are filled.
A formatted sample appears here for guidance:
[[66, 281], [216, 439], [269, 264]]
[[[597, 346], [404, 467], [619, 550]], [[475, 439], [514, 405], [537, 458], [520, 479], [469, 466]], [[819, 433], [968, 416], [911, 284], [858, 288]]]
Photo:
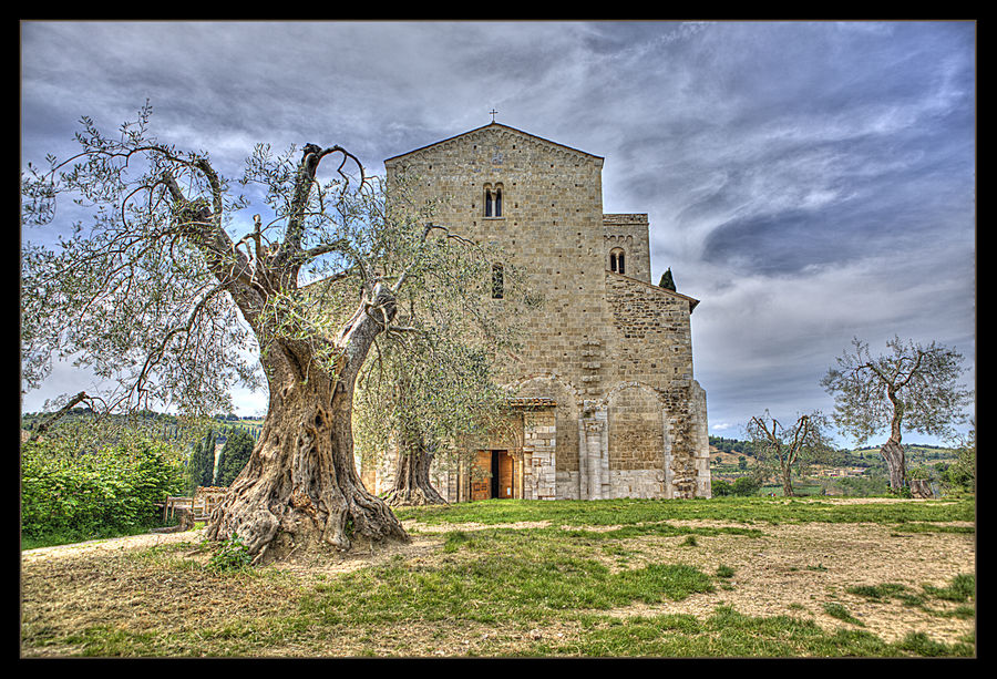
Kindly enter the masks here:
[[[685, 526], [722, 522], [671, 522]], [[932, 533], [897, 535], [880, 524], [767, 525], [761, 537], [697, 536], [697, 546], [683, 547], [682, 537], [628, 541], [643, 562], [669, 560], [715, 573], [733, 569], [730, 588], [693, 594], [682, 601], [617, 609], [614, 615], [692, 614], [709, 616], [727, 605], [750, 616], [801, 614], [828, 628], [850, 627], [829, 615], [826, 603], [839, 603], [862, 620], [864, 629], [892, 642], [912, 630], [954, 644], [974, 631], [975, 620], [939, 617], [896, 601], [874, 601], [849, 594], [856, 585], [896, 583], [921, 590], [929, 584], [945, 587], [958, 575], [976, 572], [975, 535]], [[955, 605], [933, 604], [950, 610]], [[852, 627], [854, 628], [854, 627]]]

